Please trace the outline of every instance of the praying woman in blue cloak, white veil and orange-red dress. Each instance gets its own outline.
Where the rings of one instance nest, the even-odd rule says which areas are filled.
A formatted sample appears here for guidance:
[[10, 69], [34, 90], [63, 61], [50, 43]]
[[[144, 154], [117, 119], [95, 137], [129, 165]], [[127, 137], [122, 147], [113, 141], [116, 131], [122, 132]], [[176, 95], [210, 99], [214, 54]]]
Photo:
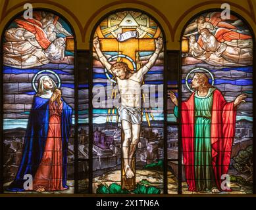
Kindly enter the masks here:
[[38, 82], [38, 93], [28, 119], [22, 160], [7, 190], [24, 191], [24, 175], [32, 175], [37, 192], [66, 190], [68, 138], [72, 108], [48, 75]]

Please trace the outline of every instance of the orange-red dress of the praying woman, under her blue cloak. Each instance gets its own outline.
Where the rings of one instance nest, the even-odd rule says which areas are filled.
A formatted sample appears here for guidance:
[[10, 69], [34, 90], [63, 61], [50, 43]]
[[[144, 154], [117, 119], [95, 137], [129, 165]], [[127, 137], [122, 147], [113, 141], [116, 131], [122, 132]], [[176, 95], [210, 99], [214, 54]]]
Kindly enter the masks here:
[[33, 182], [34, 190], [66, 190], [63, 188], [63, 146], [61, 143], [61, 112], [63, 103], [49, 100], [49, 129], [43, 158]]

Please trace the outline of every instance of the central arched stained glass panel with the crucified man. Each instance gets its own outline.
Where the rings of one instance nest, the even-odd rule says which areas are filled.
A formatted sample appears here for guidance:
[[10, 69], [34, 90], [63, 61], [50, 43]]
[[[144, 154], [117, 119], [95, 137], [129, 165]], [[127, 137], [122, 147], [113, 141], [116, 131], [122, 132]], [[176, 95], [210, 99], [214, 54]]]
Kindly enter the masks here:
[[161, 28], [130, 10], [107, 16], [95, 28], [93, 193], [163, 193]]

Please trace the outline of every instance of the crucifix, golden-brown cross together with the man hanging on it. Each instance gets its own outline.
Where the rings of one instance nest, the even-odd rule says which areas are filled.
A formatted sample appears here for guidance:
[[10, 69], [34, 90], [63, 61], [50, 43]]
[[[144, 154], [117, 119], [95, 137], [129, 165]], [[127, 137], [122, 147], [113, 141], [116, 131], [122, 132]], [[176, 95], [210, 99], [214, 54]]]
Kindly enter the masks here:
[[[123, 29], [123, 32], [129, 29]], [[116, 78], [116, 83], [120, 91], [121, 106], [118, 108], [118, 116], [122, 124], [122, 188], [128, 190], [136, 187], [135, 171], [135, 150], [140, 140], [141, 129], [141, 84], [143, 76], [155, 64], [157, 57], [163, 47], [163, 39], [138, 39], [130, 38], [126, 41], [116, 39], [93, 39], [93, 47], [101, 64], [107, 71]], [[144, 66], [138, 66], [136, 72], [131, 62], [125, 58], [122, 62], [111, 65], [102, 52], [120, 52], [136, 61], [138, 51], [155, 51], [149, 58], [149, 62]]]

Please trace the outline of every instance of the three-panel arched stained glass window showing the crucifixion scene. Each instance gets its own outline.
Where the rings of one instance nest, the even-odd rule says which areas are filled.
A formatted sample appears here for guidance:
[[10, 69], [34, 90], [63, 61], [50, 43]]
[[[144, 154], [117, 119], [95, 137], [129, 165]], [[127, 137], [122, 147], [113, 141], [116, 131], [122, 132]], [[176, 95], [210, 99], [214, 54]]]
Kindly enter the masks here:
[[124, 10], [76, 53], [61, 16], [14, 18], [2, 39], [3, 192], [253, 193], [251, 31], [206, 12], [181, 51], [165, 39], [157, 20]]

